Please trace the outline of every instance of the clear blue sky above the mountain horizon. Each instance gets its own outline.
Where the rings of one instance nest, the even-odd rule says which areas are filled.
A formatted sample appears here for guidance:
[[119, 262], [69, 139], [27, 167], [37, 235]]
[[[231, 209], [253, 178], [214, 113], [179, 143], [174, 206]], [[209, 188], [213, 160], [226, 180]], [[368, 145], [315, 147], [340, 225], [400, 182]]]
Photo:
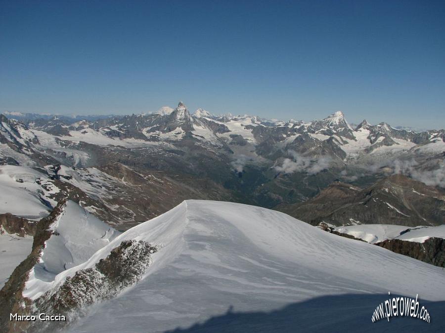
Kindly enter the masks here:
[[0, 111], [445, 127], [445, 1], [3, 1]]

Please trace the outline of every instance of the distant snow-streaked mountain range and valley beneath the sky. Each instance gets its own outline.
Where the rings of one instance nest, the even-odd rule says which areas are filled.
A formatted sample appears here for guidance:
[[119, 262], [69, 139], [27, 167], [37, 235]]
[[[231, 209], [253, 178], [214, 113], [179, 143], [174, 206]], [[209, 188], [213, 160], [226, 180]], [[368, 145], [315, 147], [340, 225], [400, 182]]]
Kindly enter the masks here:
[[[180, 102], [138, 115], [8, 116], [0, 115], [2, 164], [30, 167], [58, 188], [81, 191], [101, 219], [122, 227], [190, 197], [285, 207], [333, 182], [365, 188], [393, 174], [445, 187], [444, 130], [417, 133], [366, 120], [353, 128], [341, 111], [312, 122], [268, 121], [191, 114]], [[57, 164], [54, 175], [47, 166]], [[110, 198], [104, 188], [121, 195]], [[54, 204], [45, 189], [36, 191], [46, 202], [33, 212], [39, 216]]]

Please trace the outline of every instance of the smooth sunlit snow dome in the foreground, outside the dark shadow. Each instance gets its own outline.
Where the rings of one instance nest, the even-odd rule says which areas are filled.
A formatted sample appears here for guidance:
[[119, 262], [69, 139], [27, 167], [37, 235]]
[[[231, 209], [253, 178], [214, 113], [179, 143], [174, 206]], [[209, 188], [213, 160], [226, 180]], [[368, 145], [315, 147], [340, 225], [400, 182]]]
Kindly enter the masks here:
[[[445, 299], [438, 267], [332, 235], [279, 212], [212, 201], [185, 201], [126, 231], [75, 269], [92, 267], [128, 239], [164, 247], [153, 256], [142, 281], [95, 306], [73, 332], [164, 332], [224, 314], [230, 306], [267, 311], [326, 295], [391, 291]], [[378, 305], [374, 302], [366, 304], [369, 318]], [[341, 318], [349, 305], [336, 306], [328, 322]], [[363, 329], [369, 331], [370, 325], [369, 319]]]

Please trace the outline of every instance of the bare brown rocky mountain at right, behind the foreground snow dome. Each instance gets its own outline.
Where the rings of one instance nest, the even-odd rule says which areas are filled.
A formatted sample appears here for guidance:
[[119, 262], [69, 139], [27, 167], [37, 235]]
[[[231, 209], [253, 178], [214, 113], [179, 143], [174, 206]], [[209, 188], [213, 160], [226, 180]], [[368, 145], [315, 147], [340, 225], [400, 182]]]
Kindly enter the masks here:
[[276, 209], [312, 225], [439, 225], [445, 222], [445, 192], [393, 175], [364, 189], [333, 183], [311, 200]]

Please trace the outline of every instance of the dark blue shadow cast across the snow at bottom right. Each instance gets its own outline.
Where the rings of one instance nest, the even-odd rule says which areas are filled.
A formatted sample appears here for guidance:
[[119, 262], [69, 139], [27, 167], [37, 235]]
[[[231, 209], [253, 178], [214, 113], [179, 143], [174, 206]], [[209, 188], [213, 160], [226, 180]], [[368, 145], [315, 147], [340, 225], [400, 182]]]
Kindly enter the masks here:
[[[412, 297], [404, 297], [407, 296]], [[419, 312], [424, 306], [430, 314], [430, 323], [409, 315], [373, 323], [371, 317], [376, 307], [383, 302], [385, 311], [384, 302], [392, 297], [398, 295], [322, 296], [270, 312], [236, 312], [230, 306], [223, 315], [168, 333], [444, 332], [445, 301], [418, 298]]]

